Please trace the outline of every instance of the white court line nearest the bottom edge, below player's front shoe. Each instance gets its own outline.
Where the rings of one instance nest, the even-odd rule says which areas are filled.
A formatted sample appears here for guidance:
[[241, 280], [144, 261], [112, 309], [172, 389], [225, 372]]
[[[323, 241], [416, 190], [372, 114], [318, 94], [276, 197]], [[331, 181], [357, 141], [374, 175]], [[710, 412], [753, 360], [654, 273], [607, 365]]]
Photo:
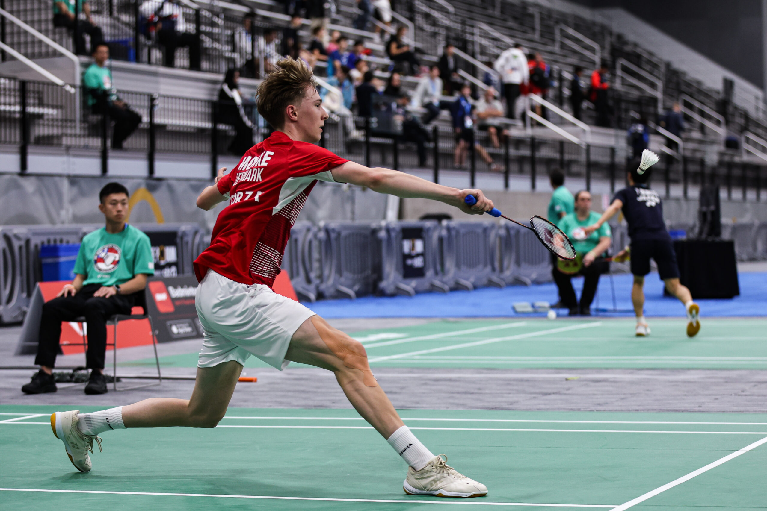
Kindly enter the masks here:
[[221, 495], [215, 493], [161, 493], [161, 492], [117, 492], [99, 490], [38, 490], [33, 488], [0, 488], [3, 492], [42, 492], [42, 493], [89, 493], [97, 495], [146, 495], [146, 496], [202, 496], [219, 499], [268, 499], [268, 500], [314, 500], [331, 502], [361, 503], [403, 503], [403, 504], [460, 504], [463, 506], [543, 506], [543, 507], [614, 507], [614, 504], [541, 504], [527, 502], [467, 502], [466, 500], [393, 500], [393, 499], [331, 499], [310, 496], [271, 496], [271, 495]]

